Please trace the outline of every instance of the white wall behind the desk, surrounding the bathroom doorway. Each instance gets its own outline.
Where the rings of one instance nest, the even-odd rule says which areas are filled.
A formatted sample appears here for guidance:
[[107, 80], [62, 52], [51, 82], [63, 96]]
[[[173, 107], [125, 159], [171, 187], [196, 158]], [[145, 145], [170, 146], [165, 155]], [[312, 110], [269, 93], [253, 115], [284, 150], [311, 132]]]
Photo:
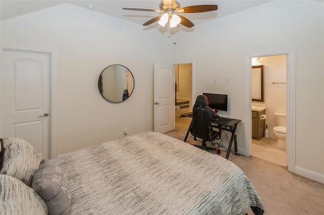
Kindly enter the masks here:
[[223, 115], [242, 120], [237, 138], [244, 149], [244, 92], [251, 87], [244, 81], [245, 54], [284, 48], [296, 48], [296, 167], [324, 181], [323, 2], [274, 1], [180, 31], [173, 57], [195, 60], [195, 96], [228, 94], [230, 110]]

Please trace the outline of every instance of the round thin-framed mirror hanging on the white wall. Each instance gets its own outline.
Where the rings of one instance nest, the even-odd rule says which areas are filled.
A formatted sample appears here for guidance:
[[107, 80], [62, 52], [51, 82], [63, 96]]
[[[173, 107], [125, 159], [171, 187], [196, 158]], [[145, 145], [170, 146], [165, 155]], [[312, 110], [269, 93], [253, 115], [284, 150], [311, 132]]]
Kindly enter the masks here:
[[125, 66], [110, 65], [100, 74], [98, 87], [101, 95], [108, 101], [125, 101], [134, 90], [133, 74]]

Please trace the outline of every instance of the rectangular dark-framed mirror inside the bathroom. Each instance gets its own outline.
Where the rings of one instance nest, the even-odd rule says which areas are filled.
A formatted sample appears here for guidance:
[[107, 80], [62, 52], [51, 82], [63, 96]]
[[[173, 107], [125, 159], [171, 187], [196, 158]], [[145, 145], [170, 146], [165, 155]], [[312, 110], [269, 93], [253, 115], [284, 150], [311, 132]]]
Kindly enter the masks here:
[[252, 101], [264, 102], [264, 65], [252, 66]]

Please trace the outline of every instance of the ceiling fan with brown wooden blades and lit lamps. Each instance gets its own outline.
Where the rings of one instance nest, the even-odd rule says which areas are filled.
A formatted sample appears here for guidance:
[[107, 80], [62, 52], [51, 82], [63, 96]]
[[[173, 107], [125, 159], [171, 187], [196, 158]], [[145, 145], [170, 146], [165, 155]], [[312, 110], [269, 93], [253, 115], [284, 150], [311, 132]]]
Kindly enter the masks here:
[[[165, 26], [166, 23], [169, 21], [170, 27], [176, 27], [179, 23], [186, 26], [192, 27], [194, 24], [187, 18], [179, 15], [179, 13], [201, 13], [201, 12], [209, 12], [209, 11], [216, 11], [217, 5], [194, 5], [180, 8], [180, 4], [178, 1], [175, 0], [163, 0], [159, 4], [159, 10], [157, 9], [149, 9], [149, 8], [131, 8], [131, 7], [124, 7], [124, 10], [133, 10], [133, 11], [150, 11], [150, 12], [164, 12], [163, 15], [154, 17], [153, 19], [148, 20], [143, 25], [147, 26], [156, 21], [161, 26]], [[178, 13], [178, 15], [176, 14]]]

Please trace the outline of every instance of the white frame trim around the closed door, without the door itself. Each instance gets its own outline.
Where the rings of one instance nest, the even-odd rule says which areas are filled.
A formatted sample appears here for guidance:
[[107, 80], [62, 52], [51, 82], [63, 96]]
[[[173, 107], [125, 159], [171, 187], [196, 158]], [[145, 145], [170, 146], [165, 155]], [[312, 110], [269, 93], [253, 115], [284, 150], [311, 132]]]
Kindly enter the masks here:
[[[1, 65], [4, 65], [4, 51], [27, 51], [46, 53], [51, 56], [50, 75], [50, 158], [57, 157], [57, 50], [53, 48], [33, 47], [25, 45], [1, 43]], [[4, 67], [0, 69], [0, 136], [4, 135]]]

